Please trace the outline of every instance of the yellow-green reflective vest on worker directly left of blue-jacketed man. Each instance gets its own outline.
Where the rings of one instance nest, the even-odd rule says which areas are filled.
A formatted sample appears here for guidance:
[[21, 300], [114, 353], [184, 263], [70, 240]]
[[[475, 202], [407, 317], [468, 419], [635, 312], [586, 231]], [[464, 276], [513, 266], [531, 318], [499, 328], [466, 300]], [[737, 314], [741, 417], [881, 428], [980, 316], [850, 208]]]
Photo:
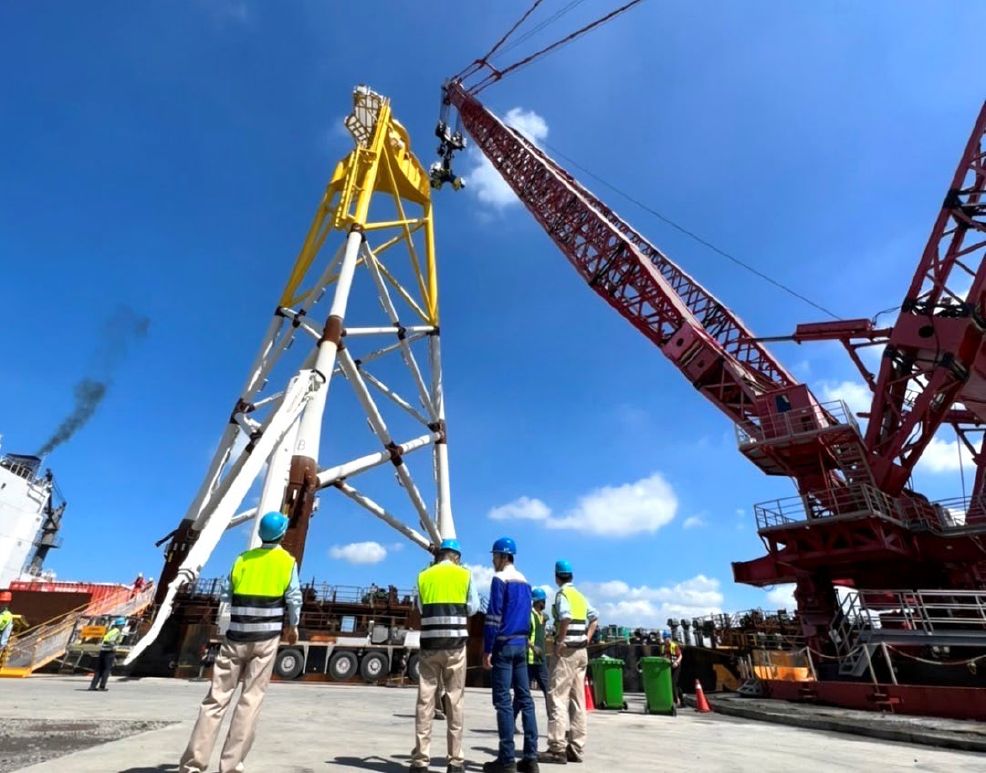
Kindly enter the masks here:
[[442, 561], [418, 575], [421, 601], [421, 649], [464, 647], [469, 638], [469, 570]]

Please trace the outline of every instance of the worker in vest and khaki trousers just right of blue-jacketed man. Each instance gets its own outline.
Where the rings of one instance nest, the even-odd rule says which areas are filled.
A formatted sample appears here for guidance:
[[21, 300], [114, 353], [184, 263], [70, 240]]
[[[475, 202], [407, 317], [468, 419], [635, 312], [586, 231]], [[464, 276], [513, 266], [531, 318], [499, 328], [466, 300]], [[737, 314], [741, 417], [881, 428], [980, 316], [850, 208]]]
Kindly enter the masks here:
[[555, 648], [548, 690], [548, 751], [541, 753], [541, 762], [582, 762], [585, 753], [585, 670], [589, 663], [586, 647], [599, 616], [572, 585], [572, 577], [568, 561], [555, 562], [558, 591], [552, 607]]

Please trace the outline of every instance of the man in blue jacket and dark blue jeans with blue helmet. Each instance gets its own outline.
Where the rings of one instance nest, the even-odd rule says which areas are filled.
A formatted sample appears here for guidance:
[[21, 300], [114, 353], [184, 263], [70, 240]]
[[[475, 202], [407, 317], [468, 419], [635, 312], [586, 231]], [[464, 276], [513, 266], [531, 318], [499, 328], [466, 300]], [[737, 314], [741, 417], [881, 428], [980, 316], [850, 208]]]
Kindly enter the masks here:
[[[493, 705], [500, 748], [496, 759], [483, 764], [484, 773], [536, 773], [538, 729], [527, 677], [527, 644], [531, 635], [531, 585], [514, 566], [517, 545], [510, 537], [493, 543], [490, 600], [483, 629], [483, 668], [493, 670]], [[511, 698], [510, 690], [513, 689]], [[515, 761], [515, 707], [524, 727], [524, 753]]]

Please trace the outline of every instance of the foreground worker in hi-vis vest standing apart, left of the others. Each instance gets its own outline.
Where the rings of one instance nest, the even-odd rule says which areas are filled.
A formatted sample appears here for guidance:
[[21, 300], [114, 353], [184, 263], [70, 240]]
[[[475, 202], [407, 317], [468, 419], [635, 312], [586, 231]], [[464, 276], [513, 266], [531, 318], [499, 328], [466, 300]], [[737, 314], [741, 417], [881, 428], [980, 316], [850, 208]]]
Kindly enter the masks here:
[[[229, 604], [229, 626], [212, 667], [212, 685], [199, 708], [180, 773], [211, 770], [209, 760], [223, 716], [237, 686], [243, 692], [233, 711], [226, 743], [219, 758], [220, 773], [243, 770], [253, 745], [260, 706], [270, 684], [277, 647], [283, 638], [298, 641], [301, 586], [294, 556], [280, 546], [288, 530], [281, 513], [260, 519], [261, 546], [241, 553], [223, 583], [220, 601]], [[285, 613], [287, 619], [285, 620]]]

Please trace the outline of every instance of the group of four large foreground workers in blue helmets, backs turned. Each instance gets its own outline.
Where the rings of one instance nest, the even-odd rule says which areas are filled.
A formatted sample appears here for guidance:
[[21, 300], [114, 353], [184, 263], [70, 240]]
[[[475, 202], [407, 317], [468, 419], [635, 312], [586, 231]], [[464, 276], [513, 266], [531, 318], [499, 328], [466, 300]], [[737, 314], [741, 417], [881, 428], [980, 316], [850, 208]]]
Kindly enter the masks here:
[[[243, 770], [253, 744], [256, 722], [281, 641], [298, 640], [302, 595], [298, 567], [280, 542], [288, 528], [281, 513], [260, 520], [261, 546], [242, 553], [222, 588], [229, 604], [225, 637], [216, 657], [209, 692], [181, 756], [180, 773], [204, 773], [223, 717], [239, 683], [243, 690], [229, 725], [219, 760], [220, 773]], [[547, 669], [545, 607], [547, 594], [532, 588], [514, 561], [517, 545], [509, 537], [492, 548], [496, 573], [490, 584], [483, 634], [483, 667], [491, 671], [499, 749], [486, 762], [486, 773], [532, 773], [539, 762], [582, 762], [586, 743], [586, 648], [596, 629], [596, 611], [572, 584], [568, 561], [555, 564], [558, 586], [552, 604], [555, 644]], [[469, 617], [479, 611], [472, 573], [461, 564], [458, 540], [444, 540], [434, 562], [418, 576], [421, 612], [415, 745], [410, 769], [431, 763], [431, 729], [436, 711], [447, 715], [446, 773], [464, 773], [463, 702]], [[531, 682], [545, 692], [548, 708], [547, 750], [538, 752], [538, 727]], [[521, 760], [515, 760], [515, 722], [524, 734]]]

